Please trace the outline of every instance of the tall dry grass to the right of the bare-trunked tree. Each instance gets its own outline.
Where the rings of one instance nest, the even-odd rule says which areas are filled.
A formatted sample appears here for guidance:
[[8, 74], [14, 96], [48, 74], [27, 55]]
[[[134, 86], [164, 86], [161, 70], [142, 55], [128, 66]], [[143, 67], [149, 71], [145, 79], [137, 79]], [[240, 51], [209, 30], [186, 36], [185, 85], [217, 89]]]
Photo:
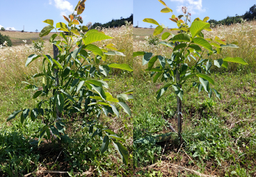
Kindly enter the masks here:
[[204, 32], [205, 38], [215, 38], [218, 36], [227, 43], [237, 42], [238, 49], [223, 48], [220, 55], [213, 55], [212, 59], [230, 57], [241, 57], [249, 65], [241, 66], [236, 63], [228, 63], [229, 70], [237, 70], [239, 67], [248, 68], [252, 72], [256, 66], [256, 21], [249, 21], [242, 24], [232, 24], [229, 26], [217, 26], [212, 31]]

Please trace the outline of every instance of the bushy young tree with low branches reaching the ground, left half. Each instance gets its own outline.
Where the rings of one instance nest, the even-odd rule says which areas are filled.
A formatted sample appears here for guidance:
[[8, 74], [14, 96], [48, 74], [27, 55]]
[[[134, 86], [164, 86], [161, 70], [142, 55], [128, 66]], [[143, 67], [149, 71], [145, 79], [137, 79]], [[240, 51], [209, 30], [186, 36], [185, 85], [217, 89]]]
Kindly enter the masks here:
[[[7, 119], [10, 121], [20, 113], [20, 121], [23, 123], [30, 116], [32, 121], [42, 117], [44, 118], [44, 127], [38, 135], [38, 145], [42, 140], [54, 137], [68, 141], [68, 135], [65, 134], [67, 123], [72, 123], [70, 119], [75, 114], [84, 115], [80, 121], [82, 127], [88, 127], [90, 138], [99, 135], [102, 139], [100, 152], [108, 150], [109, 143], [112, 142], [120, 154], [124, 164], [127, 164], [128, 151], [121, 142], [125, 139], [119, 137], [109, 128], [99, 125], [97, 118], [100, 114], [116, 114], [120, 116], [118, 107], [124, 109], [124, 112], [131, 116], [131, 110], [125, 101], [131, 100], [132, 91], [127, 91], [114, 98], [105, 88], [108, 88], [108, 81], [105, 77], [111, 72], [111, 68], [119, 68], [132, 72], [132, 68], [127, 64], [108, 63], [108, 56], [125, 56], [120, 50], [109, 43], [103, 47], [94, 45], [94, 42], [111, 39], [96, 29], [88, 30], [87, 26], [81, 26], [78, 29], [81, 13], [84, 11], [84, 2], [79, 1], [74, 13], [69, 15], [68, 25], [58, 22], [54, 27], [54, 21], [44, 20], [49, 24], [40, 32], [40, 37], [48, 35], [52, 29], [56, 29], [50, 42], [54, 44], [54, 56], [36, 55], [28, 56], [26, 66], [35, 59], [42, 58], [42, 73], [36, 73], [33, 77], [42, 77], [42, 86], [38, 87], [28, 84], [26, 89], [35, 91], [33, 98], [42, 96], [40, 102], [33, 109], [22, 109], [14, 111]], [[81, 21], [82, 22], [82, 21]], [[63, 32], [67, 32], [65, 35]], [[76, 46], [76, 49], [74, 49]], [[108, 49], [108, 50], [106, 50]], [[113, 51], [111, 51], [111, 50]], [[103, 61], [103, 64], [100, 64]], [[39, 89], [42, 88], [42, 89]], [[88, 121], [92, 119], [92, 121]]]

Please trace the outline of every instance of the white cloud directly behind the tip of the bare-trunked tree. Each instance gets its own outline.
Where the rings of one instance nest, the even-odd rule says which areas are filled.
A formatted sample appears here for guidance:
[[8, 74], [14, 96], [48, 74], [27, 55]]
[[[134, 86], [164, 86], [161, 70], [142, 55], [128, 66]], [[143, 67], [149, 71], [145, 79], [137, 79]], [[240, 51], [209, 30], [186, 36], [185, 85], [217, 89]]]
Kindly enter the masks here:
[[188, 12], [192, 15], [198, 14], [201, 12], [205, 12], [205, 8], [203, 8], [202, 0], [170, 0], [170, 1], [176, 1], [179, 3], [177, 5], [177, 12], [182, 13], [182, 6], [186, 6], [188, 8]]

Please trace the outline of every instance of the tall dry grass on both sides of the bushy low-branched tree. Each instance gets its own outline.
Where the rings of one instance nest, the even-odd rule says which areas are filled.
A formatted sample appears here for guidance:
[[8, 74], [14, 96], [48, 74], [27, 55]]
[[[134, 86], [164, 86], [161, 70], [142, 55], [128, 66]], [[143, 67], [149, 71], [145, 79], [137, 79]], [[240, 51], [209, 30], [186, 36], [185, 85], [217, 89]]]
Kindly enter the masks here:
[[[108, 56], [109, 62], [127, 63], [132, 66], [132, 25], [127, 23], [126, 26], [106, 28], [102, 31], [114, 38], [97, 42], [96, 45], [100, 47], [108, 43], [114, 43], [117, 49], [125, 49], [125, 57]], [[10, 84], [26, 81], [35, 73], [42, 71], [42, 58], [36, 59], [28, 67], [25, 66], [26, 59], [31, 54], [49, 54], [53, 56], [52, 44], [45, 42], [41, 52], [34, 49], [33, 45], [26, 43], [0, 49], [0, 87], [8, 88]]]

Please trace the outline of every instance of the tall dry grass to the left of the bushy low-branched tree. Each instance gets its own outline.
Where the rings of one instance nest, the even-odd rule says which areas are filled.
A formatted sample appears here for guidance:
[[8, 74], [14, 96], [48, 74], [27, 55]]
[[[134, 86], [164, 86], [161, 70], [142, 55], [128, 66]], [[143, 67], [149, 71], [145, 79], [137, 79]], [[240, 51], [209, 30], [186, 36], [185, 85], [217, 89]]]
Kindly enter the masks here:
[[52, 56], [52, 45], [49, 42], [45, 42], [41, 52], [26, 43], [0, 49], [0, 88], [8, 88], [10, 84], [25, 81], [29, 76], [41, 72], [42, 59], [36, 59], [27, 67], [25, 63], [29, 55], [42, 53]]

